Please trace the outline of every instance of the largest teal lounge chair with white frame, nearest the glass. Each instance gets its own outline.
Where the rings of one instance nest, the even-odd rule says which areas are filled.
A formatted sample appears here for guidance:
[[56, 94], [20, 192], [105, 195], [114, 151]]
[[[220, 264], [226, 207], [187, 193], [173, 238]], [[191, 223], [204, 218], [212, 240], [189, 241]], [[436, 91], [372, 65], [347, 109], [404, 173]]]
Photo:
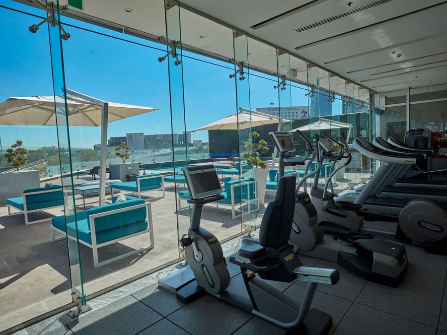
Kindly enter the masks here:
[[[95, 268], [116, 262], [145, 250], [153, 249], [153, 221], [150, 203], [135, 197], [126, 197], [126, 201], [115, 202], [118, 196], [112, 198], [113, 203], [93, 207], [77, 212], [77, 231], [74, 215], [54, 217], [51, 220], [51, 241], [59, 241], [68, 237], [92, 249]], [[64, 236], [56, 238], [58, 232]], [[98, 249], [109, 244], [129, 239], [134, 236], [149, 233], [150, 244], [140, 249], [99, 262]]]

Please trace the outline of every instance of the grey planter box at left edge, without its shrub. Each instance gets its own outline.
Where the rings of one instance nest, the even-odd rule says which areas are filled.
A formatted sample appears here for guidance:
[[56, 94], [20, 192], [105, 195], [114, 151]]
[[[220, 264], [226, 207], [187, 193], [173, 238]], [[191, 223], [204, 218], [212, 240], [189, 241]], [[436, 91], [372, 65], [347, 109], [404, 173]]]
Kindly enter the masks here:
[[0, 206], [6, 199], [21, 197], [24, 190], [40, 187], [39, 171], [0, 173]]

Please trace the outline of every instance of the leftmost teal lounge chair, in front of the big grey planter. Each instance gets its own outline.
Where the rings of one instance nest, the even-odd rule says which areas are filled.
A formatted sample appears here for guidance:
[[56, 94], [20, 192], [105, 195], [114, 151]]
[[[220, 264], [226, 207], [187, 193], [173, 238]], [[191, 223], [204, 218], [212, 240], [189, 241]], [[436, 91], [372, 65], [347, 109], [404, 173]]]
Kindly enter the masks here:
[[11, 214], [11, 207], [18, 209], [25, 214], [25, 224], [46, 221], [49, 220], [49, 218], [30, 222], [28, 220], [28, 214], [42, 211], [43, 209], [63, 206], [64, 196], [62, 194], [62, 186], [53, 185], [37, 189], [28, 189], [23, 191], [21, 197], [6, 199], [6, 204], [8, 205], [8, 215]]

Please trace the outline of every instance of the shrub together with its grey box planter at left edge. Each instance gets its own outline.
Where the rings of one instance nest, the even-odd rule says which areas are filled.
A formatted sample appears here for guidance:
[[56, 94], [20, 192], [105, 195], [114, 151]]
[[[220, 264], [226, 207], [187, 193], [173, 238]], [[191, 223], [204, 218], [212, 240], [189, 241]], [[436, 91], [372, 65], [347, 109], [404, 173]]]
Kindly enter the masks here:
[[38, 170], [20, 170], [28, 160], [28, 150], [22, 147], [23, 141], [17, 139], [3, 154], [4, 159], [11, 163], [13, 173], [0, 173], [0, 205], [6, 204], [6, 199], [20, 197], [24, 190], [40, 187]]

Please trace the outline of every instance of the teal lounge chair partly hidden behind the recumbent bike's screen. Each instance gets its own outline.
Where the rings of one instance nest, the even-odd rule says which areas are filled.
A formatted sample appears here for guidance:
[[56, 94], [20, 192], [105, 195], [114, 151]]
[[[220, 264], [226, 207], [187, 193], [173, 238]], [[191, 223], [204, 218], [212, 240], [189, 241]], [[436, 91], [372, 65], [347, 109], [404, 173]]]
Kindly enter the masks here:
[[[228, 205], [231, 206], [231, 217], [236, 219], [242, 214], [236, 216], [236, 205], [241, 206], [247, 204], [248, 212], [252, 213], [255, 209], [259, 208], [259, 199], [256, 195], [256, 181], [253, 178], [242, 178], [238, 180], [231, 181], [230, 177], [225, 178], [224, 182], [224, 192], [221, 193], [225, 198], [222, 200], [211, 202], [210, 204]], [[189, 191], [180, 191], [178, 193], [178, 209], [187, 208], [187, 206], [182, 207], [180, 201], [186, 201], [190, 198]], [[251, 209], [252, 204], [255, 204], [253, 210]]]

